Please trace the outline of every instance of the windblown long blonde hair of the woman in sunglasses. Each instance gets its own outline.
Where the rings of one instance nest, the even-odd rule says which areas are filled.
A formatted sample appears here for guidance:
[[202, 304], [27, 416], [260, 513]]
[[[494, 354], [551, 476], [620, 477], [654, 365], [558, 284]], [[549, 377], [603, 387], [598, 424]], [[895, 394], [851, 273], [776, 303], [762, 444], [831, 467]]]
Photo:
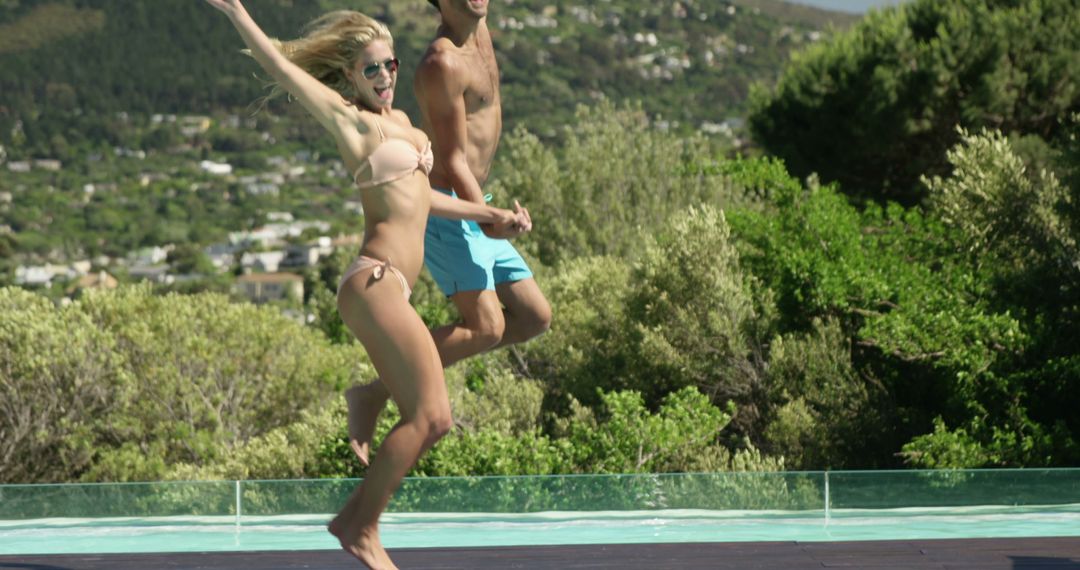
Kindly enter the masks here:
[[[355, 97], [355, 86], [346, 76], [360, 56], [360, 52], [376, 40], [387, 42], [391, 49], [394, 39], [381, 22], [349, 10], [324, 14], [303, 27], [303, 37], [291, 40], [272, 40], [278, 50], [312, 77], [323, 82], [346, 99]], [[246, 52], [246, 50], [245, 50]], [[266, 101], [285, 93], [276, 81], [267, 83], [270, 94], [259, 99]]]

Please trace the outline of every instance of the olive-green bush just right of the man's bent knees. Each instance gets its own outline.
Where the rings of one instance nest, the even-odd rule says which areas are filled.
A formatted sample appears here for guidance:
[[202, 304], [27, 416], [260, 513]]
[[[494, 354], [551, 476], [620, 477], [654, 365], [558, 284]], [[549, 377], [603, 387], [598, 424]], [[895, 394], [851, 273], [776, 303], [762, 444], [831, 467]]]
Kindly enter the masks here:
[[523, 349], [528, 367], [586, 405], [597, 391], [634, 390], [659, 404], [698, 386], [746, 404], [761, 389], [762, 323], [750, 280], [711, 207], [675, 216], [632, 268], [571, 261], [545, 285], [552, 331]]

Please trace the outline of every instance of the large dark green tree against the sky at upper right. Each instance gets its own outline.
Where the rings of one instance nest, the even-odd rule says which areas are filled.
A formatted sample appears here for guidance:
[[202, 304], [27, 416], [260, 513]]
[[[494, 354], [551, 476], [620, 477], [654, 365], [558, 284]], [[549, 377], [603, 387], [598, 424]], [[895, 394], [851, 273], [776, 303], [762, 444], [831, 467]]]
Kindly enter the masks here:
[[969, 130], [1050, 138], [1080, 107], [1074, 0], [916, 0], [797, 55], [751, 128], [798, 177], [915, 204]]

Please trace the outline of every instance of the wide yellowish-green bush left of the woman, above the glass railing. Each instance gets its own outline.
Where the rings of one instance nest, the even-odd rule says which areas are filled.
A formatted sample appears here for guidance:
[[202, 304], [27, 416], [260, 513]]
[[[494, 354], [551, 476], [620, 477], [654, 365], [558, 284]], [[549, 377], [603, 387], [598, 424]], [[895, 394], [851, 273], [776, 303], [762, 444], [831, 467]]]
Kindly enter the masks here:
[[212, 465], [374, 376], [359, 348], [219, 295], [125, 287], [58, 309], [0, 295], [8, 481], [160, 479], [174, 465]]

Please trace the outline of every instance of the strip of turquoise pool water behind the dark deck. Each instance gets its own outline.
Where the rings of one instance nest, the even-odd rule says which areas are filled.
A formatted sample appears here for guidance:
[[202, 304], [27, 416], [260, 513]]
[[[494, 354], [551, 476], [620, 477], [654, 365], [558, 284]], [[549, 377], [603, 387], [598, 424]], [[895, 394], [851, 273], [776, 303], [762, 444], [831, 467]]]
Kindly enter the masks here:
[[[329, 515], [0, 521], [0, 554], [336, 548]], [[391, 548], [744, 541], [1080, 537], [1080, 505], [822, 511], [388, 514]]]

